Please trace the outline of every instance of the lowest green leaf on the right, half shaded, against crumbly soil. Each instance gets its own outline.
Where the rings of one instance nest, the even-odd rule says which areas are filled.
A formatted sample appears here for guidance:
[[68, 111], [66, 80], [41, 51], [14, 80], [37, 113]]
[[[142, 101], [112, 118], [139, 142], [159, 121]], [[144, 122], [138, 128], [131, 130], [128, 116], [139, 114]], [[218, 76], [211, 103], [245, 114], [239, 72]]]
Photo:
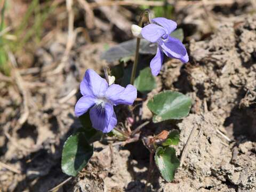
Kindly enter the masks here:
[[171, 182], [174, 179], [176, 169], [180, 165], [175, 149], [172, 147], [158, 147], [155, 154], [155, 162], [162, 177]]

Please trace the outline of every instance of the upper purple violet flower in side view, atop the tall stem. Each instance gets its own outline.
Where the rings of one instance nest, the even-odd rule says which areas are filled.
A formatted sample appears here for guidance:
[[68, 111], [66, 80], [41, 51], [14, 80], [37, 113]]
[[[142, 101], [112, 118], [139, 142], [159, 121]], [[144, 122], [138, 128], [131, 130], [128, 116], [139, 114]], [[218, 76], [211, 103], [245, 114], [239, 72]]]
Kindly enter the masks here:
[[177, 28], [177, 23], [166, 18], [151, 19], [151, 23], [141, 30], [143, 38], [149, 42], [157, 43], [157, 53], [150, 61], [151, 72], [154, 76], [161, 70], [164, 54], [167, 57], [188, 62], [188, 53], [179, 39], [171, 37], [170, 34]]

